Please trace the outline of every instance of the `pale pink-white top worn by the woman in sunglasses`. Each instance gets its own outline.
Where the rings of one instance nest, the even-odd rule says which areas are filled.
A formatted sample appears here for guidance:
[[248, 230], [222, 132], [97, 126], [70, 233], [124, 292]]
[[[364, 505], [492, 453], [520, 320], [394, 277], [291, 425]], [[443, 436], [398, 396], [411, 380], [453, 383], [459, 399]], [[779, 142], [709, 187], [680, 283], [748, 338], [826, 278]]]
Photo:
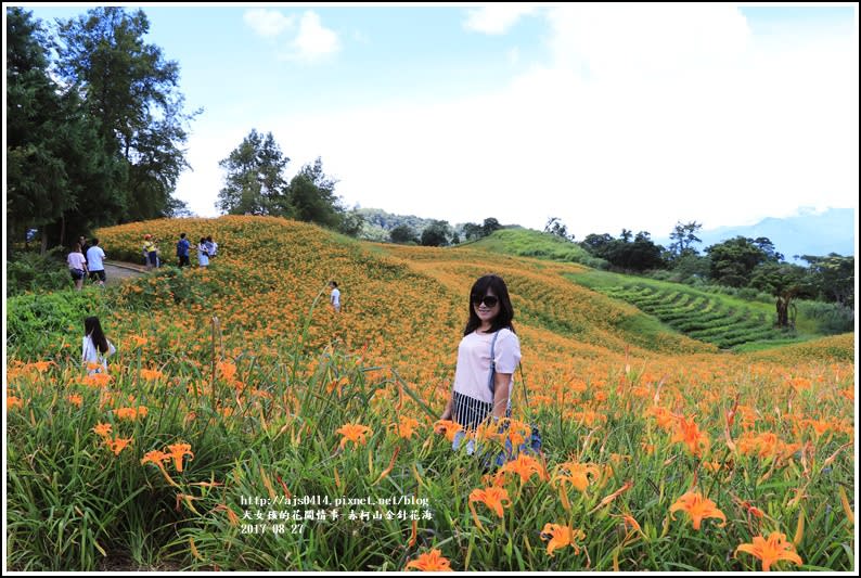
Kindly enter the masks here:
[[[488, 387], [490, 377], [490, 344], [492, 333], [474, 331], [465, 335], [458, 346], [458, 368], [454, 371], [454, 390], [481, 401], [492, 402], [493, 395]], [[509, 329], [499, 330], [497, 344], [493, 346], [497, 373], [511, 373], [509, 398], [514, 382], [514, 370], [521, 362], [521, 339]]]

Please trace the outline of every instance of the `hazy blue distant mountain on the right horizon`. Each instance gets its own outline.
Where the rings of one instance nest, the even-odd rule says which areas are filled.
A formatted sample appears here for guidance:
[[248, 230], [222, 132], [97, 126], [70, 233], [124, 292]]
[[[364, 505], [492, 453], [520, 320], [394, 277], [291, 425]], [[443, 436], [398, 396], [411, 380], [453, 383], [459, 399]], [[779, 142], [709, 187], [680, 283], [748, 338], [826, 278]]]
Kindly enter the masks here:
[[[830, 208], [820, 214], [801, 209], [799, 215], [782, 219], [769, 217], [756, 224], [699, 230], [696, 236], [703, 243], [694, 247], [702, 253], [709, 245], [738, 235], [766, 236], [787, 261], [793, 261], [795, 255], [854, 255], [854, 221], [851, 208]], [[654, 241], [665, 247], [670, 244], [669, 237]]]

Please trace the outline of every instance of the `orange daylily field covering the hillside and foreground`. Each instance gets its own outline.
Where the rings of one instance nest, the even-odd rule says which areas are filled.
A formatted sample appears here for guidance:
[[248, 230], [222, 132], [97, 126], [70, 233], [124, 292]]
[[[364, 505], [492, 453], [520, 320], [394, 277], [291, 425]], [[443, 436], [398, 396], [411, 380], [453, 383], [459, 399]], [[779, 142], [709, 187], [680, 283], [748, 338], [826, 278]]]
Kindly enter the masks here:
[[[97, 234], [111, 259], [183, 231], [218, 242], [208, 268], [8, 300], [9, 569], [856, 568], [852, 334], [730, 354], [578, 265], [275, 218]], [[498, 468], [504, 435], [470, 455], [438, 421], [486, 272], [523, 351], [504, 435], [543, 439]]]

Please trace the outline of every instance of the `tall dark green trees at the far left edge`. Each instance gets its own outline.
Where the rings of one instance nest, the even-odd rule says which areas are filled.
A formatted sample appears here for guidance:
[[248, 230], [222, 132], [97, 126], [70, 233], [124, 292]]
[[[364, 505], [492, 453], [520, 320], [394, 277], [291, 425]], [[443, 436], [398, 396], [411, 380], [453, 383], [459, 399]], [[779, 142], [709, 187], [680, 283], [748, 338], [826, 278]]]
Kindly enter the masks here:
[[[143, 11], [93, 8], [49, 31], [7, 9], [7, 255], [95, 227], [179, 216], [188, 162], [179, 64], [144, 42]], [[53, 59], [51, 57], [54, 55]]]

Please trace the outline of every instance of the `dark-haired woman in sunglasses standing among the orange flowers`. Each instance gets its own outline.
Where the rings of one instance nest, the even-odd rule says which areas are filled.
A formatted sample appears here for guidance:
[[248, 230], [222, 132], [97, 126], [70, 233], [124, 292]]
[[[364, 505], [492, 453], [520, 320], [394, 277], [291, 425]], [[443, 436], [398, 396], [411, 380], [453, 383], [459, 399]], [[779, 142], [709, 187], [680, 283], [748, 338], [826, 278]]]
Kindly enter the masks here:
[[521, 341], [514, 333], [513, 317], [502, 278], [484, 275], [473, 284], [470, 320], [458, 347], [454, 385], [441, 420], [453, 420], [464, 429], [474, 429], [488, 418], [499, 421], [511, 416], [512, 375], [521, 361]]

